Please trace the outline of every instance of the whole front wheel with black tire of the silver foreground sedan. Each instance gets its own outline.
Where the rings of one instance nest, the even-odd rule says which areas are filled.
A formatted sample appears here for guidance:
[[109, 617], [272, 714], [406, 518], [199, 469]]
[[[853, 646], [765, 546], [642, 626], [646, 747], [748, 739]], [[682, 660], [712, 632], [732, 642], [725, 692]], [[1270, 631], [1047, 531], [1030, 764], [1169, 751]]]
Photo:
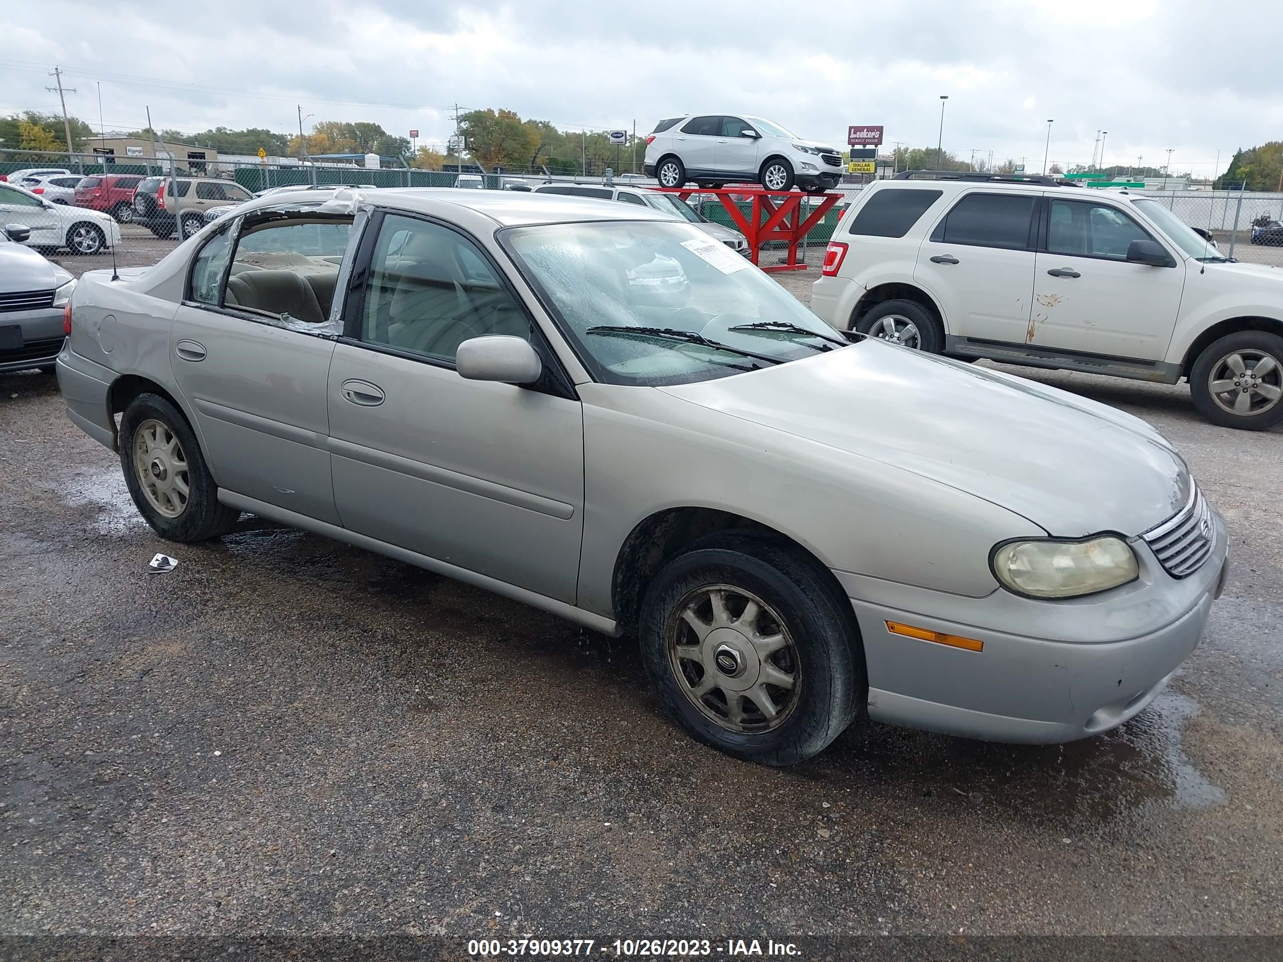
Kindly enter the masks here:
[[866, 690], [849, 603], [813, 558], [754, 532], [712, 535], [656, 576], [642, 607], [647, 673], [695, 739], [761, 764], [831, 743]]

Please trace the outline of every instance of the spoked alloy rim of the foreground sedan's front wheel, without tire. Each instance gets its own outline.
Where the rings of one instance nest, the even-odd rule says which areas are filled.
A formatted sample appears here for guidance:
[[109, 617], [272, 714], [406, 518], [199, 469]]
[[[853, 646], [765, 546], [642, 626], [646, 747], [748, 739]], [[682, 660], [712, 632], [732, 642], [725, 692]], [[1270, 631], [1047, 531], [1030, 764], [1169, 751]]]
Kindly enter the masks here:
[[727, 731], [771, 731], [797, 708], [802, 668], [788, 626], [742, 587], [708, 585], [674, 608], [668, 662], [699, 712]]

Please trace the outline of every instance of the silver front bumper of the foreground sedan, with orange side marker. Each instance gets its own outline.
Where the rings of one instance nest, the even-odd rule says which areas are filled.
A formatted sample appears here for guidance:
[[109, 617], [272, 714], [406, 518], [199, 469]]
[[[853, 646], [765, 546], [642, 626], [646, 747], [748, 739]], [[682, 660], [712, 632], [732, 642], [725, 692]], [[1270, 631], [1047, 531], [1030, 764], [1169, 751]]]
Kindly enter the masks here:
[[[865, 644], [869, 717], [946, 735], [1033, 744], [1073, 741], [1121, 725], [1153, 700], [1202, 636], [1229, 571], [1219, 516], [1215, 527], [1211, 555], [1188, 578], [1171, 578], [1148, 555], [1141, 558], [1141, 582], [1096, 600], [1033, 602], [1002, 590], [989, 598], [960, 598], [907, 586], [885, 590], [899, 593], [898, 604], [885, 603], [890, 598], [866, 600], [869, 591], [852, 596]], [[835, 573], [853, 594], [852, 576]], [[922, 604], [903, 605], [915, 595]], [[1034, 613], [1029, 634], [1012, 631], [1026, 605]], [[987, 620], [987, 608], [1002, 609], [997, 621], [1005, 630], [978, 626]], [[887, 622], [975, 639], [984, 648], [920, 641], [892, 634]], [[1130, 634], [1133, 627], [1139, 631]]]

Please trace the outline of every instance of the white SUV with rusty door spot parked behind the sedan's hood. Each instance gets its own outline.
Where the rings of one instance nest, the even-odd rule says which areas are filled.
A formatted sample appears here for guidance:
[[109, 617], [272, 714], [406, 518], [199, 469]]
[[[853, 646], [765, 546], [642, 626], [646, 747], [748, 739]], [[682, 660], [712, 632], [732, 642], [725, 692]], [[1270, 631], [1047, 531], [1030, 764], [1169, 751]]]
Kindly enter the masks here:
[[1283, 421], [1283, 269], [1228, 260], [1157, 200], [908, 172], [843, 217], [811, 309], [953, 358], [1189, 381], [1225, 427]]

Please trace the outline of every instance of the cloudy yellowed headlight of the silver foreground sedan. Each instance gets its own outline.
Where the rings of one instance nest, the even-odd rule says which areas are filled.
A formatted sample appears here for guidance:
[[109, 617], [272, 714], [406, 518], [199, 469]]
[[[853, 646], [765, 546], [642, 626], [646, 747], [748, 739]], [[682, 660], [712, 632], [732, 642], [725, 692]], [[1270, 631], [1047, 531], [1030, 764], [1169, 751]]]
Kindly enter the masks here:
[[1085, 541], [1008, 541], [990, 561], [1003, 587], [1028, 598], [1078, 598], [1134, 581], [1135, 554], [1121, 537]]

